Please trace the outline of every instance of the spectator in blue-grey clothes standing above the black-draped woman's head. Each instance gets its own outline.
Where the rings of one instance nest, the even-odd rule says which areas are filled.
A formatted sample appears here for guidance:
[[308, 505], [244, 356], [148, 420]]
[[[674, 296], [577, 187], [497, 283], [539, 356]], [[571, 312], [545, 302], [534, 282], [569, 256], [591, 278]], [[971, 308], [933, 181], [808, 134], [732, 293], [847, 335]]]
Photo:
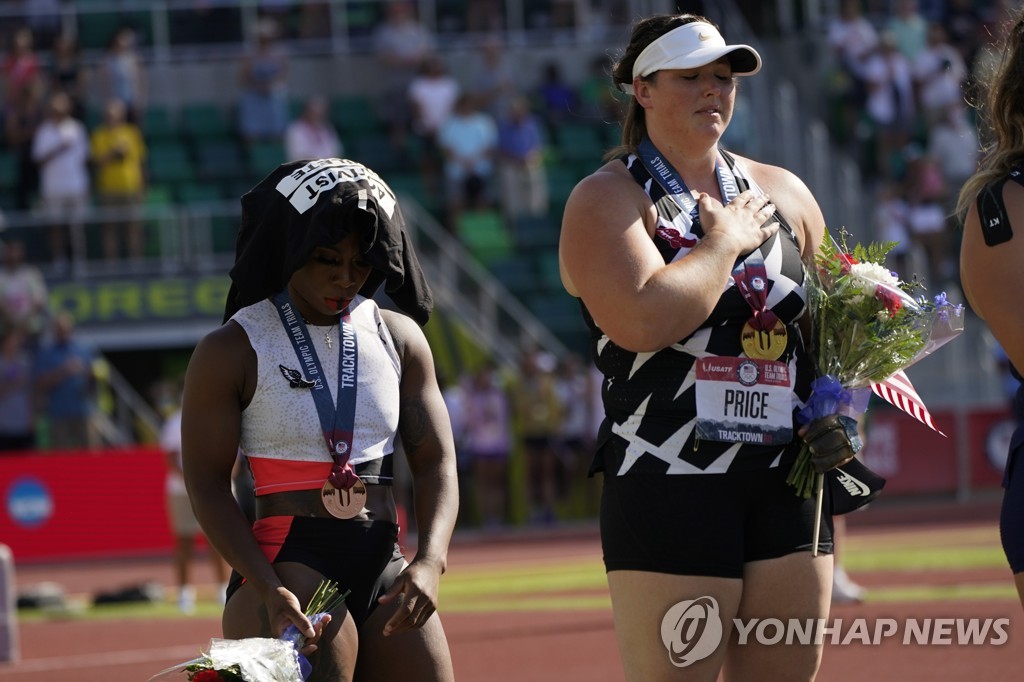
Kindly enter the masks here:
[[288, 126], [289, 58], [278, 31], [273, 19], [260, 19], [256, 47], [242, 59], [239, 131], [248, 142], [280, 140]]

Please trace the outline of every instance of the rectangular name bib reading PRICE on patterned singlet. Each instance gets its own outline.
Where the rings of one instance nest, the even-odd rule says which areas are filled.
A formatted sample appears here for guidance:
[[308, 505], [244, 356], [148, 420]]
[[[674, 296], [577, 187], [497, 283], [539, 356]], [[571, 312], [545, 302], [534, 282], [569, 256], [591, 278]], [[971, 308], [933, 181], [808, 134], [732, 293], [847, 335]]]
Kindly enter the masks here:
[[696, 366], [697, 437], [781, 445], [793, 439], [790, 366], [748, 357], [703, 357]]

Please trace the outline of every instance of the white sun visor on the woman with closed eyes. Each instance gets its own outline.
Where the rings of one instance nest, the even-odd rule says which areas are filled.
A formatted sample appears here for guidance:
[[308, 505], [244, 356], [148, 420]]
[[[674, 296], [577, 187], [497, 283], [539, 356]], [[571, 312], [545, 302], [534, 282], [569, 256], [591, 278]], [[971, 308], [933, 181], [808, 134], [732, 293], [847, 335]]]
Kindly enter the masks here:
[[761, 71], [761, 55], [753, 47], [726, 45], [711, 24], [692, 22], [645, 47], [633, 62], [633, 78], [644, 78], [663, 69], [696, 69], [723, 56], [729, 57], [733, 76], [753, 76]]

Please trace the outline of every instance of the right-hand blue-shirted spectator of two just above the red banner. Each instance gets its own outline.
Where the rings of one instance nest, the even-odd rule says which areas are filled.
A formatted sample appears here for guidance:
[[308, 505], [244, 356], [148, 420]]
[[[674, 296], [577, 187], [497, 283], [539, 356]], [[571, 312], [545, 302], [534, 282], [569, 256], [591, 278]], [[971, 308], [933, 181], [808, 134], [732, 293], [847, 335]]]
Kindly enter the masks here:
[[33, 376], [38, 404], [49, 427], [52, 450], [91, 449], [97, 444], [93, 353], [75, 338], [70, 312], [53, 316], [53, 338], [36, 354]]

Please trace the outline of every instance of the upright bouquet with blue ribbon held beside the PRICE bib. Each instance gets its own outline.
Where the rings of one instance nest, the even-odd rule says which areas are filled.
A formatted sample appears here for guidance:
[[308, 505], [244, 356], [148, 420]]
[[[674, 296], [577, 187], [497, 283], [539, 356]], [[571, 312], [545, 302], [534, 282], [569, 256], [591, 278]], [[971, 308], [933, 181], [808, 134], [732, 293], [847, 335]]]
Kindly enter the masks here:
[[[867, 409], [871, 390], [964, 330], [962, 305], [944, 293], [927, 299], [921, 282], [903, 282], [885, 267], [895, 246], [857, 244], [851, 250], [846, 232], [837, 243], [826, 230], [809, 275], [810, 353], [818, 378], [798, 414], [812, 427], [787, 482], [804, 498], [817, 487], [819, 504], [823, 472], [859, 450], [856, 417]], [[839, 438], [819, 440], [829, 429]], [[845, 447], [836, 447], [840, 440]], [[845, 452], [828, 453], [829, 446]]]

